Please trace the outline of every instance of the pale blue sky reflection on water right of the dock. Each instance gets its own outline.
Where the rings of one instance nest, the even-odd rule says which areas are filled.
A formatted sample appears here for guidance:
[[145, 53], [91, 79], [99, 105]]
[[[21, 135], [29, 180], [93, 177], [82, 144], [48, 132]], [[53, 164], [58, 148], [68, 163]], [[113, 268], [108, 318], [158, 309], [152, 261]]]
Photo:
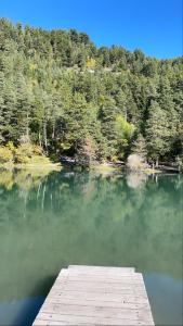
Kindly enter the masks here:
[[155, 273], [144, 280], [156, 325], [183, 325], [183, 281]]

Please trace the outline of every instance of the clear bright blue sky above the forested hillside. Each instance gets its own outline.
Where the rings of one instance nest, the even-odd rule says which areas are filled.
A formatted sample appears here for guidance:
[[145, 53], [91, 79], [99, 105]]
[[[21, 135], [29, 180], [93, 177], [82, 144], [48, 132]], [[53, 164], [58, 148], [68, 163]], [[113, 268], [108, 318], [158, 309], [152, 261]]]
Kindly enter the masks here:
[[0, 16], [45, 29], [76, 28], [97, 47], [183, 54], [183, 0], [0, 0]]

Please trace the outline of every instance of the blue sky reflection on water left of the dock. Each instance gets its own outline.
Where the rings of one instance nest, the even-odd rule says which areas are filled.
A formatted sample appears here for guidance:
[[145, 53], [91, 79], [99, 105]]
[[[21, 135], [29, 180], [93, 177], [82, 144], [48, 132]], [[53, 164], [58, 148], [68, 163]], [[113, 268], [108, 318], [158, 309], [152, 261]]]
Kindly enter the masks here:
[[[0, 325], [31, 325], [37, 312], [43, 303], [43, 297], [25, 298], [0, 304]], [[31, 306], [31, 309], [30, 309]], [[24, 324], [23, 324], [24, 321]]]

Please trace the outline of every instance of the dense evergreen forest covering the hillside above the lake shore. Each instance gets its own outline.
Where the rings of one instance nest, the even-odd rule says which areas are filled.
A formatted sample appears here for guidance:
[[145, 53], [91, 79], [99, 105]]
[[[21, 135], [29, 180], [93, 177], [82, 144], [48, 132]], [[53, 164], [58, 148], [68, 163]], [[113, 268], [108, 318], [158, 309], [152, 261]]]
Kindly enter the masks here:
[[[0, 20], [0, 161], [183, 158], [183, 60]], [[181, 163], [180, 163], [181, 164]]]

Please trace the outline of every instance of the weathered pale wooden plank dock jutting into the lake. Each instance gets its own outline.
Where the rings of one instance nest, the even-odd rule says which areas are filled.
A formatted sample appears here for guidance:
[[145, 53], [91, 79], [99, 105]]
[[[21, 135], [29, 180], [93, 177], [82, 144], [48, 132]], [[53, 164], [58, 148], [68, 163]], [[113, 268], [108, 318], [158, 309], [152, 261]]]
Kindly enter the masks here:
[[155, 324], [143, 276], [134, 268], [71, 265], [58, 274], [32, 325]]

